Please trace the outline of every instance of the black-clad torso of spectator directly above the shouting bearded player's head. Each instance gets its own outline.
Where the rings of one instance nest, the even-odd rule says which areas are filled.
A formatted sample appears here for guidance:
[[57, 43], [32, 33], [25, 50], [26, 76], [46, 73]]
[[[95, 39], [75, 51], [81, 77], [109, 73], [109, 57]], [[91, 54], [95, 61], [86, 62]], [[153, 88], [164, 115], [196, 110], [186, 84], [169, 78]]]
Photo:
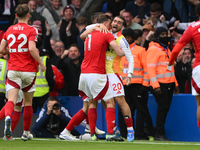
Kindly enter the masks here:
[[126, 6], [126, 3], [129, 0], [109, 0], [107, 2], [107, 10], [113, 14], [113, 17], [119, 16], [120, 11], [123, 10]]

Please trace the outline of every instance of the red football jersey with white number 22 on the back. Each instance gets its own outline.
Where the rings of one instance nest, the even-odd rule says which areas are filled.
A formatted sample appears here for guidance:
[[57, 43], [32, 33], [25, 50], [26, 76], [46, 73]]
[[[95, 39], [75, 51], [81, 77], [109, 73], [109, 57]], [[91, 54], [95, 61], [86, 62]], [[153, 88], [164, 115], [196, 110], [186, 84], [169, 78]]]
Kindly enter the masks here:
[[12, 25], [5, 32], [3, 40], [9, 48], [8, 70], [37, 72], [37, 61], [31, 56], [28, 43], [37, 42], [37, 30], [25, 23]]

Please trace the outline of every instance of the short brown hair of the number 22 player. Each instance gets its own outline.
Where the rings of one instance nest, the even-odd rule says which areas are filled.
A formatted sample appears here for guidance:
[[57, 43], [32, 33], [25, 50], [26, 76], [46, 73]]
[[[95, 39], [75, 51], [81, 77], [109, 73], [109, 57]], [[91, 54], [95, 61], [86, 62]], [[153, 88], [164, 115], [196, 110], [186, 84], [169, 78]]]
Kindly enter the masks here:
[[15, 12], [19, 18], [24, 18], [29, 13], [27, 4], [19, 4], [15, 9]]

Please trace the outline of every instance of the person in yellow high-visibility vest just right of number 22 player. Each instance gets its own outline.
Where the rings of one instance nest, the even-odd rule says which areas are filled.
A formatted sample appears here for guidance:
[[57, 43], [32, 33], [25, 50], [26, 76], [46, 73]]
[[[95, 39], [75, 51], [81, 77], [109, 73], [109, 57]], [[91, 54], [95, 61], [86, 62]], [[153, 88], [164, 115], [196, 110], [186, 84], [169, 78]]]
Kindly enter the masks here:
[[41, 59], [47, 69], [44, 73], [39, 70], [36, 75], [36, 91], [33, 95], [32, 104], [33, 113], [36, 113], [38, 108], [41, 110], [44, 102], [49, 97], [49, 93], [54, 89], [55, 86], [54, 73], [49, 59], [47, 56], [43, 56]]

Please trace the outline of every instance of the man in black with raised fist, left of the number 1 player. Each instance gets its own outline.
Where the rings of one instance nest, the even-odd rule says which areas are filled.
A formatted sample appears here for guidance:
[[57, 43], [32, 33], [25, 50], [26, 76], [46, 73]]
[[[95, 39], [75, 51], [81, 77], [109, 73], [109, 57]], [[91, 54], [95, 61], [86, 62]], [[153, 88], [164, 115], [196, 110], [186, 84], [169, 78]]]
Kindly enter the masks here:
[[63, 96], [78, 96], [78, 82], [81, 72], [82, 58], [76, 44], [72, 44], [69, 50], [65, 50], [58, 60], [57, 67], [62, 70], [65, 87]]

